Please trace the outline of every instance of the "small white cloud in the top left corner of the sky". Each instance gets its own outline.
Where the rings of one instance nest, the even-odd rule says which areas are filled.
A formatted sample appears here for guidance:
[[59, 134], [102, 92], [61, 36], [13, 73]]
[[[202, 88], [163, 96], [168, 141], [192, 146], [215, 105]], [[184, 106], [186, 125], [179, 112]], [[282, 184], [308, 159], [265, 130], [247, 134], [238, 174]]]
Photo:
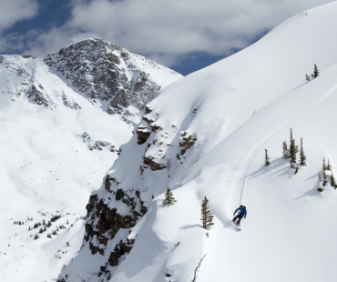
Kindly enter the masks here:
[[37, 0], [1, 0], [0, 32], [18, 21], [37, 15], [38, 8]]

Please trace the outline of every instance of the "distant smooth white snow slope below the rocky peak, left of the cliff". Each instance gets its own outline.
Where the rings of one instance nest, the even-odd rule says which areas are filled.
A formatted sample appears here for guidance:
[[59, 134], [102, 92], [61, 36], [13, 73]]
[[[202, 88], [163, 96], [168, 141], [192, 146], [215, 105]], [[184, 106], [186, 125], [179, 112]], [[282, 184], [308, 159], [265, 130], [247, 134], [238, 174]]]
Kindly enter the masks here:
[[[45, 93], [59, 96], [49, 96], [51, 108], [30, 103], [22, 76], [12, 76], [2, 68], [1, 280], [51, 281], [80, 247], [79, 234], [84, 232], [80, 217], [86, 216], [87, 197], [117, 158], [117, 152], [111, 152], [108, 146], [89, 150], [91, 142], [84, 142], [80, 135], [87, 132], [92, 141], [110, 142], [117, 149], [128, 141], [132, 126], [92, 106], [66, 81], [47, 71], [41, 60], [14, 58], [11, 64], [26, 65], [26, 69], [40, 64], [35, 83], [42, 84]], [[24, 90], [19, 96], [20, 89]], [[62, 93], [74, 97], [81, 108], [64, 106]], [[33, 228], [55, 216], [62, 217], [46, 232], [39, 234], [40, 227]], [[46, 237], [61, 225], [66, 230], [59, 228], [57, 233], [62, 235]], [[29, 227], [32, 230], [28, 231]], [[37, 240], [36, 234], [40, 237]], [[42, 266], [41, 270], [36, 266]]]

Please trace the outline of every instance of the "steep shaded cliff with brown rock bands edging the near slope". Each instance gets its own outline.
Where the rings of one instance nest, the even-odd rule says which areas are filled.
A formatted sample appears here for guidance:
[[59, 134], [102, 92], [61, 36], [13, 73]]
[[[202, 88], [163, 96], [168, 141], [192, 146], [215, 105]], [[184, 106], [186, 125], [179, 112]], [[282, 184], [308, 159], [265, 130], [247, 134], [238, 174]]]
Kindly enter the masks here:
[[[176, 125], [160, 126], [160, 116], [150, 106], [146, 106], [145, 113], [134, 136], [122, 146], [122, 152], [102, 186], [93, 192], [87, 204], [86, 233], [81, 251], [89, 251], [93, 256], [86, 259], [100, 262], [96, 266], [92, 263], [90, 268], [99, 281], [113, 278], [117, 267], [128, 257], [137, 241], [140, 220], [151, 208], [153, 198], [166, 189], [171, 177], [177, 173], [177, 167], [182, 173], [189, 168], [188, 163], [184, 164], [189, 154], [199, 154], [198, 146], [194, 146], [198, 141], [196, 134]], [[189, 122], [195, 114], [189, 113]], [[137, 153], [132, 148], [137, 148]], [[132, 150], [134, 155], [130, 163]], [[149, 183], [148, 179], [153, 181], [154, 177], [160, 182]], [[69, 269], [81, 263], [80, 257], [81, 254], [70, 262], [58, 281], [71, 281], [74, 273]]]

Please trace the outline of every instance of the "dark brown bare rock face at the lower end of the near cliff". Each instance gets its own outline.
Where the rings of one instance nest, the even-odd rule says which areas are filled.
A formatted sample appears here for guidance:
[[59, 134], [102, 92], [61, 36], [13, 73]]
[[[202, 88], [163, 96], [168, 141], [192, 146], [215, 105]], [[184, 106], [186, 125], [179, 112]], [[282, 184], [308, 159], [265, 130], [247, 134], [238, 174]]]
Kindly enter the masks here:
[[[140, 191], [125, 191], [118, 188], [118, 185], [115, 178], [107, 176], [104, 180], [107, 193], [105, 198], [92, 195], [87, 204], [84, 245], [89, 247], [92, 255], [107, 257], [106, 264], [100, 267], [98, 276], [109, 277], [111, 275], [109, 269], [117, 267], [119, 258], [128, 254], [133, 247], [135, 239], [126, 237], [125, 241], [123, 239], [116, 241], [117, 233], [120, 230], [129, 232], [136, 226], [138, 218], [143, 217], [148, 211], [140, 198]], [[111, 205], [112, 203], [114, 205]], [[118, 210], [123, 212], [120, 213]], [[108, 247], [109, 242], [115, 245]]]

